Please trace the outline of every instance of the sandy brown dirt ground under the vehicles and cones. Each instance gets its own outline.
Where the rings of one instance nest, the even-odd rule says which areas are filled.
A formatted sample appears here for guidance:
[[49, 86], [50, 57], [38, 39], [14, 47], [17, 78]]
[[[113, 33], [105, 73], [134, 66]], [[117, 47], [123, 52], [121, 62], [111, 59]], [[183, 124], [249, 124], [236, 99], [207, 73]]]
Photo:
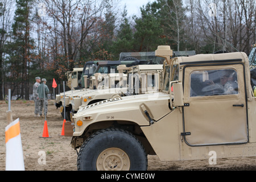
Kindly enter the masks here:
[[[5, 170], [5, 127], [8, 104], [0, 101], [0, 170]], [[34, 117], [34, 101], [11, 101], [13, 119], [19, 118], [23, 158], [26, 171], [76, 171], [76, 151], [70, 145], [72, 137], [61, 136], [63, 118], [54, 101], [49, 101], [47, 126], [49, 138], [42, 138], [44, 117]], [[40, 152], [45, 152], [43, 163]], [[256, 170], [256, 157], [217, 159], [210, 165], [208, 160], [161, 162], [157, 156], [148, 156], [149, 171], [187, 170]]]

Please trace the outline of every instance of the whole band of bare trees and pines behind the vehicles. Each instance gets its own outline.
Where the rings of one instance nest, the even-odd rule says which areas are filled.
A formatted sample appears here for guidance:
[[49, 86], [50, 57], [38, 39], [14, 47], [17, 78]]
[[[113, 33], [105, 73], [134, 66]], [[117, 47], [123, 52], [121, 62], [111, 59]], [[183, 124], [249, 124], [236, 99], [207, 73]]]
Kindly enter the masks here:
[[128, 16], [121, 0], [0, 0], [0, 100], [29, 100], [35, 77], [57, 84], [121, 52], [243, 51], [256, 43], [255, 0], [156, 0]]

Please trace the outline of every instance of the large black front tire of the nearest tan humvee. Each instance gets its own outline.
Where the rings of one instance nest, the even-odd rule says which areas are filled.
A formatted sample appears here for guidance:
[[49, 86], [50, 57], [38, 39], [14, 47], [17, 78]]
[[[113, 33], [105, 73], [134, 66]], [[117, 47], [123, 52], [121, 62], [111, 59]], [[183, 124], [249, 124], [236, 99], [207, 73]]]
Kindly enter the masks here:
[[[111, 166], [109, 159], [101, 159], [99, 156], [105, 156], [106, 150], [121, 150], [128, 158], [119, 159], [117, 153], [117, 159], [113, 159], [113, 156], [109, 156], [110, 159], [115, 160], [116, 165]], [[113, 152], [115, 152], [113, 150]], [[106, 153], [108, 154], [108, 153]], [[109, 155], [109, 154], [108, 154]], [[114, 154], [113, 154], [114, 155]], [[104, 160], [105, 165], [101, 168], [99, 160]], [[129, 164], [123, 160], [129, 160]], [[96, 164], [97, 163], [97, 164]], [[127, 168], [129, 166], [129, 168]], [[89, 137], [82, 147], [80, 148], [77, 156], [77, 169], [79, 171], [97, 171], [97, 170], [130, 170], [130, 171], [146, 171], [147, 170], [147, 155], [141, 142], [134, 137], [133, 134], [126, 130], [109, 128], [97, 131], [91, 137]]]

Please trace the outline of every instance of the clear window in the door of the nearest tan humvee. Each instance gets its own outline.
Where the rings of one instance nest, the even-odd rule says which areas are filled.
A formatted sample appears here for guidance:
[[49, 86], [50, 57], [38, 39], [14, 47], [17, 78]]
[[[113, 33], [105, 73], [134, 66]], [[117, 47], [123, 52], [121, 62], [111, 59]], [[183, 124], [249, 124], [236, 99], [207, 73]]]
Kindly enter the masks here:
[[190, 96], [238, 94], [237, 72], [234, 69], [193, 71], [190, 79]]

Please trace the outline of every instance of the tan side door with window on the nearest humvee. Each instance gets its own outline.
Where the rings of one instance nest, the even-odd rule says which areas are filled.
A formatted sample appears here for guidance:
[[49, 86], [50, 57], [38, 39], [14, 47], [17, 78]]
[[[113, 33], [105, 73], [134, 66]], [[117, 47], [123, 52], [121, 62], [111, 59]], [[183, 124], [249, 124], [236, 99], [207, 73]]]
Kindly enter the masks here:
[[183, 131], [189, 146], [246, 143], [242, 64], [184, 67]]

